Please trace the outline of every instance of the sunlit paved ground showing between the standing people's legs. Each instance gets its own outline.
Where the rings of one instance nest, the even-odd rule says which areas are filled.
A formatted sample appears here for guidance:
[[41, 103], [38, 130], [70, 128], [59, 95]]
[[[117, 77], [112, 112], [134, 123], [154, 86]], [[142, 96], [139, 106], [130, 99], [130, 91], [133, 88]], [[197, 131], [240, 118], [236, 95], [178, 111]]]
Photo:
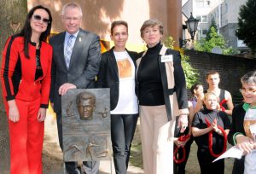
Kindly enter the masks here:
[[[45, 136], [44, 136], [44, 174], [63, 174], [62, 153], [58, 144], [58, 136], [56, 130], [55, 117], [49, 115], [45, 121]], [[200, 173], [199, 165], [196, 158], [197, 147], [192, 144], [189, 161], [186, 166], [187, 174]], [[233, 159], [225, 161], [225, 174], [230, 174], [232, 171]], [[131, 159], [128, 168], [128, 174], [144, 174], [143, 172], [142, 151], [140, 147], [139, 130], [137, 130], [133, 145], [131, 148]], [[112, 172], [111, 172], [112, 171]], [[100, 174], [114, 173], [113, 162], [102, 161], [100, 165]]]

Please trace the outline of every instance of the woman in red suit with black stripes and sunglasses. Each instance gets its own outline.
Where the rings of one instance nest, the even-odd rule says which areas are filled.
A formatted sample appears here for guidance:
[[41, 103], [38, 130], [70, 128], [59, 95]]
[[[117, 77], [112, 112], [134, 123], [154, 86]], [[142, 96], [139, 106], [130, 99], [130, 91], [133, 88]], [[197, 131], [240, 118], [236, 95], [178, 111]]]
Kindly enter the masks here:
[[10, 173], [42, 174], [44, 119], [49, 102], [52, 48], [49, 9], [29, 11], [20, 33], [3, 49], [1, 82], [9, 119]]

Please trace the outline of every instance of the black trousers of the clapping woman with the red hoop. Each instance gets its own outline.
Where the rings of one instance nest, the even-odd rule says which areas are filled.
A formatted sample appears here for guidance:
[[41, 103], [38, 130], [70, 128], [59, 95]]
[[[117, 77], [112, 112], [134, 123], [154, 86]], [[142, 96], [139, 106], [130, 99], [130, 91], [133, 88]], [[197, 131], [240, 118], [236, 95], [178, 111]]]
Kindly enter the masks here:
[[200, 165], [201, 174], [224, 174], [224, 159], [212, 163], [215, 157], [213, 157], [209, 149], [197, 150], [197, 159]]

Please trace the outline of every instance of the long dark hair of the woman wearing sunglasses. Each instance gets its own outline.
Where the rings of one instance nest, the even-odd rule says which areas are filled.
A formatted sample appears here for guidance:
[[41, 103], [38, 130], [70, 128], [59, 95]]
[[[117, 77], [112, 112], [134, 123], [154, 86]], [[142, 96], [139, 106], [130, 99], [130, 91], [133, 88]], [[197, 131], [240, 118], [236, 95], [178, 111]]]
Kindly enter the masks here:
[[29, 58], [28, 44], [31, 42], [31, 36], [32, 36], [32, 28], [30, 26], [30, 20], [32, 19], [32, 14], [34, 14], [34, 12], [37, 9], [44, 9], [49, 15], [49, 22], [48, 22], [47, 28], [44, 32], [42, 32], [42, 34], [39, 38], [39, 41], [44, 41], [45, 42], [46, 39], [49, 37], [49, 34], [50, 34], [52, 17], [51, 17], [49, 9], [45, 8], [42, 5], [38, 5], [38, 6], [33, 7], [28, 12], [28, 14], [26, 15], [25, 24], [24, 24], [23, 28], [21, 29], [21, 31], [18, 33], [18, 36], [23, 36], [24, 37], [24, 52], [25, 52], [26, 58]]

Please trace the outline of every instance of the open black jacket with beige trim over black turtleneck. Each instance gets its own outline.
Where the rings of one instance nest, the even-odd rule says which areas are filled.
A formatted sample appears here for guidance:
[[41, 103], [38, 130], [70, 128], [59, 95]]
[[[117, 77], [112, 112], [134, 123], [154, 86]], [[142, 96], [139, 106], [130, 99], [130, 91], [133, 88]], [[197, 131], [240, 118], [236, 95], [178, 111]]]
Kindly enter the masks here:
[[[146, 52], [143, 52], [143, 55], [137, 59], [137, 74], [140, 73], [143, 65], [144, 55], [146, 55]], [[163, 55], [172, 56], [172, 61], [161, 61]], [[181, 65], [181, 55], [177, 50], [167, 49], [163, 45], [162, 49], [160, 49], [158, 60], [168, 120], [170, 121], [181, 114], [189, 114], [186, 80]]]

